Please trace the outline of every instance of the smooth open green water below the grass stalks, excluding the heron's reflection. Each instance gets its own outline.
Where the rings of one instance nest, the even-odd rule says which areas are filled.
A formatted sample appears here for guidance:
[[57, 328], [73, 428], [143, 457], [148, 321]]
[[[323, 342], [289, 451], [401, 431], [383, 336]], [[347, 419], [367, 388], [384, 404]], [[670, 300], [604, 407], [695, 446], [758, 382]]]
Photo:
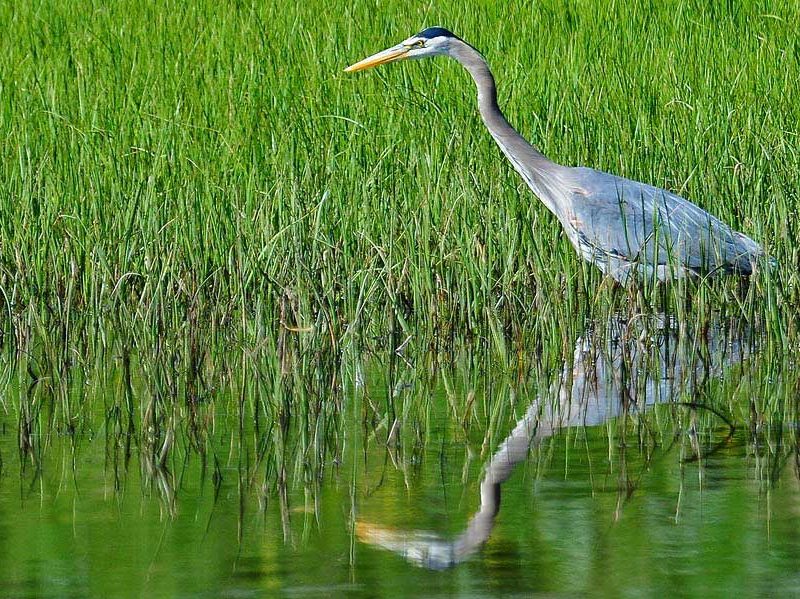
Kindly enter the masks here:
[[[242, 509], [235, 472], [216, 500], [189, 474], [171, 517], [158, 497], [142, 496], [138, 488], [116, 495], [104, 482], [102, 459], [81, 464], [85, 474], [77, 490], [72, 480], [53, 476], [34, 490], [23, 483], [20, 491], [19, 481], [7, 476], [0, 499], [4, 593], [764, 595], [797, 588], [800, 510], [793, 468], [770, 489], [742, 438], [703, 469], [681, 467], [677, 452], [659, 452], [651, 468], [631, 473], [635, 490], [619, 507], [618, 475], [608, 472], [607, 449], [605, 439], [594, 438], [566, 478], [560, 467], [538, 475], [520, 467], [504, 486], [489, 542], [446, 571], [426, 571], [360, 544], [349, 525], [354, 500], [371, 519], [442, 534], [458, 530], [476, 506], [475, 485], [443, 482], [437, 468], [408, 490], [391, 469], [380, 490], [369, 494], [370, 485], [359, 484], [354, 498], [349, 476], [332, 477], [316, 507], [294, 492], [288, 540], [275, 502], [262, 512], [246, 498]], [[600, 469], [594, 482], [590, 460]]]

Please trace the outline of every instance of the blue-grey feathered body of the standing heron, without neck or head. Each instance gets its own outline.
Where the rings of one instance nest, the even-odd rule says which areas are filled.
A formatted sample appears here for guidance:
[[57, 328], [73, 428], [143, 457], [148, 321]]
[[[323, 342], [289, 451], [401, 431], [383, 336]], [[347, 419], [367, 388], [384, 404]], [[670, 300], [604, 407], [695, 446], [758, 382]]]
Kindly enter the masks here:
[[562, 185], [541, 194], [560, 195], [553, 212], [570, 242], [617, 281], [632, 275], [661, 281], [749, 275], [763, 253], [755, 241], [678, 195], [590, 168], [562, 168]]

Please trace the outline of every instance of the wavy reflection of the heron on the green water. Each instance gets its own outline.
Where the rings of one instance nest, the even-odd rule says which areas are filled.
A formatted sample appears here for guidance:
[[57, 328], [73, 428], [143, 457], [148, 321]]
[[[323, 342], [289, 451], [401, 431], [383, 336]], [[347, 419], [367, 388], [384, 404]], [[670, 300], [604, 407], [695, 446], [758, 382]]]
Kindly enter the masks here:
[[551, 393], [537, 397], [489, 460], [480, 485], [480, 509], [464, 532], [446, 541], [421, 531], [356, 523], [362, 542], [403, 555], [431, 569], [452, 567], [489, 538], [500, 509], [500, 487], [531, 447], [559, 429], [595, 426], [633, 410], [691, 394], [709, 376], [740, 362], [753, 347], [752, 332], [736, 322], [692, 330], [664, 317], [612, 319], [575, 343]]

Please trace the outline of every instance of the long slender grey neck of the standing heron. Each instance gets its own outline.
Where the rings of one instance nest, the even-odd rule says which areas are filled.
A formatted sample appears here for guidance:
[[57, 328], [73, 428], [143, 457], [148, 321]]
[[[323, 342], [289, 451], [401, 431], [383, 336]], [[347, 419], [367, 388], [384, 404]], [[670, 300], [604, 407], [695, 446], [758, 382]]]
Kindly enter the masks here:
[[557, 176], [562, 167], [549, 160], [528, 143], [503, 116], [497, 105], [494, 76], [483, 56], [475, 48], [462, 41], [454, 43], [450, 55], [458, 60], [475, 80], [475, 85], [478, 87], [478, 109], [481, 118], [503, 154], [550, 211], [559, 215], [548, 190], [551, 189], [549, 183]]

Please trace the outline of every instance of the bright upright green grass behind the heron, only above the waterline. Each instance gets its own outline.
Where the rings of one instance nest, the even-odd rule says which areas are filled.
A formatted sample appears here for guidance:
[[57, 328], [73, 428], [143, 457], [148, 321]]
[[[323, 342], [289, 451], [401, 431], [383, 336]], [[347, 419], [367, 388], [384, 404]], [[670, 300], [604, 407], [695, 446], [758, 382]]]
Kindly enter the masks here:
[[448, 7], [391, 27], [366, 5], [324, 24], [319, 9], [3, 9], [9, 326], [31, 310], [62, 338], [111, 315], [241, 337], [289, 294], [301, 326], [340, 344], [391, 322], [469, 334], [496, 310], [605, 304], [457, 65], [340, 73], [420, 19], [485, 51], [509, 118], [548, 155], [684, 193], [779, 259], [788, 295], [753, 302], [795, 303], [794, 7]]

